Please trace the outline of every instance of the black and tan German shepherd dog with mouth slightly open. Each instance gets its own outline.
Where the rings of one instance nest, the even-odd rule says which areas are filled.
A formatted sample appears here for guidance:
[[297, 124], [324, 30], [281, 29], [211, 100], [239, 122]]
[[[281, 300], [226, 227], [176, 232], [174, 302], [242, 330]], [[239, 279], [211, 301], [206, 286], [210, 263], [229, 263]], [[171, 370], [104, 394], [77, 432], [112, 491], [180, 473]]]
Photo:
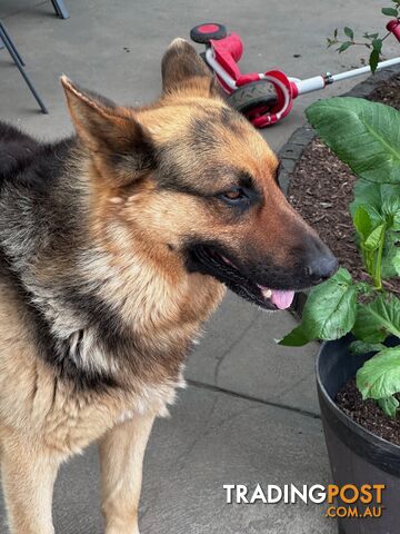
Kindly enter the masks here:
[[176, 39], [126, 108], [63, 77], [77, 135], [0, 125], [0, 444], [12, 534], [52, 534], [60, 464], [98, 441], [107, 534], [137, 534], [154, 417], [226, 287], [266, 309], [328, 278], [277, 157]]

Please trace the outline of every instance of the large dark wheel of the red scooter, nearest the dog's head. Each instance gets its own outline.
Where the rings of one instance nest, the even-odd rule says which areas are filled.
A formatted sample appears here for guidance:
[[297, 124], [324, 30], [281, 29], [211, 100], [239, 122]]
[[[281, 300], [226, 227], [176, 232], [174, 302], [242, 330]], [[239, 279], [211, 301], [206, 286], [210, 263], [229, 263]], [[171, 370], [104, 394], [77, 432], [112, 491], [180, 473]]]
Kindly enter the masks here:
[[258, 80], [239, 87], [227, 100], [232, 108], [253, 118], [271, 110], [278, 103], [278, 95], [273, 83]]

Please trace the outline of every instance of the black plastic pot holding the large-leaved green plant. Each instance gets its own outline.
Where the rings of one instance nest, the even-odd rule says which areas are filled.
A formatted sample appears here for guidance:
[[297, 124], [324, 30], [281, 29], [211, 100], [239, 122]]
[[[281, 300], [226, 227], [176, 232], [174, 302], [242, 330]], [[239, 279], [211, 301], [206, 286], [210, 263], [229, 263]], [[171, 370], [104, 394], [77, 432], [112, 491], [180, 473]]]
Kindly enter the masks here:
[[[339, 389], [356, 376], [371, 357], [349, 352], [351, 336], [324, 343], [317, 358], [317, 387], [321, 417], [334, 484], [384, 484], [381, 505], [377, 501], [349, 504], [340, 498], [334, 506], [358, 508], [358, 517], [338, 518], [340, 534], [400, 533], [400, 446], [382, 439], [348, 417], [334, 403]], [[349, 498], [346, 495], [346, 501]], [[351, 494], [352, 496], [353, 494]], [[329, 506], [329, 505], [328, 505]], [[382, 507], [380, 517], [360, 517], [369, 507]], [[340, 515], [343, 515], [343, 510]], [[337, 510], [337, 512], [339, 512]], [[334, 512], [333, 512], [334, 514]], [[334, 514], [338, 516], [339, 514]], [[379, 513], [377, 514], [379, 515]]]

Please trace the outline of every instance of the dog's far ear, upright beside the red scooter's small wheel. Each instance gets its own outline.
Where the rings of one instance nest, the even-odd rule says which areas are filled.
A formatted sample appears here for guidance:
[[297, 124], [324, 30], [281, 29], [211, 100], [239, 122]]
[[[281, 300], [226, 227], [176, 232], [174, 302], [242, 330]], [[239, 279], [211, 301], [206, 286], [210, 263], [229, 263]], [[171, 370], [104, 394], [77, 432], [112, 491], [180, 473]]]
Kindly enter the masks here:
[[218, 83], [210, 69], [184, 39], [174, 39], [161, 62], [164, 93], [186, 92], [189, 96], [217, 98]]

